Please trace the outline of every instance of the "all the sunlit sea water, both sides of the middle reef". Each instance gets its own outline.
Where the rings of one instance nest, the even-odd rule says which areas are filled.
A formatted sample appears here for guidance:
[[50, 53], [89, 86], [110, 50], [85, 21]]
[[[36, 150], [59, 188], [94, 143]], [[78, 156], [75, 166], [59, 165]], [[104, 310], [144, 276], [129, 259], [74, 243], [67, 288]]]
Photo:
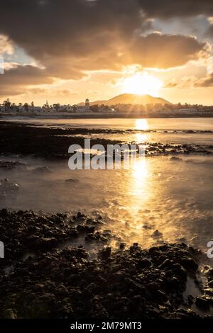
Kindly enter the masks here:
[[[124, 142], [213, 142], [212, 118], [25, 121], [42, 126], [110, 129], [114, 132], [93, 135]], [[102, 229], [114, 234], [114, 247], [121, 240], [127, 244], [138, 242], [143, 247], [187, 242], [206, 252], [207, 242], [213, 239], [213, 155], [179, 157], [141, 157], [129, 170], [71, 171], [66, 160], [1, 156], [1, 160], [19, 161], [26, 166], [0, 169], [0, 179], [7, 177], [19, 184], [17, 196], [1, 198], [0, 207], [49, 213], [80, 210], [102, 215]], [[48, 166], [50, 171], [37, 172], [38, 166]]]

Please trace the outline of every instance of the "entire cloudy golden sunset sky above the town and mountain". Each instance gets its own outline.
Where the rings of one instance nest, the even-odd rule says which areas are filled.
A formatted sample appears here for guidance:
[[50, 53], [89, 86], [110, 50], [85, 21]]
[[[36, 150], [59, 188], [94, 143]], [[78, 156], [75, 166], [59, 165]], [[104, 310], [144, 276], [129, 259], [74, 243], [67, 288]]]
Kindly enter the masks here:
[[212, 0], [1, 0], [0, 103], [213, 105]]

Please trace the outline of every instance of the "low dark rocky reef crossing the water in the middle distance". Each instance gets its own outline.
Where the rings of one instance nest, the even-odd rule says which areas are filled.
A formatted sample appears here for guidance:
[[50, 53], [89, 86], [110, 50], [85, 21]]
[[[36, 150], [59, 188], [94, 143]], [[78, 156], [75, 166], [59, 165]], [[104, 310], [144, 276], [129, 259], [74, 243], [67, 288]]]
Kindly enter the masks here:
[[[93, 145], [103, 145], [107, 151], [107, 145], [121, 145], [121, 140], [109, 140], [103, 135], [136, 132], [156, 132], [155, 130], [107, 130], [91, 128], [54, 128], [42, 127], [36, 125], [26, 125], [20, 123], [0, 123], [0, 152], [1, 154], [21, 154], [31, 155], [34, 157], [43, 157], [45, 159], [68, 159], [68, 148], [70, 145], [80, 145], [84, 147], [84, 137], [91, 138], [91, 147]], [[168, 131], [163, 131], [168, 132]], [[178, 131], [173, 131], [178, 132]], [[189, 134], [195, 132], [212, 133], [212, 131], [186, 131]], [[93, 135], [97, 135], [94, 137]], [[139, 149], [138, 142], [137, 149]], [[163, 142], [143, 142], [144, 153], [147, 157], [151, 156], [174, 156], [201, 154], [212, 155], [213, 145], [191, 145], [191, 144], [174, 144]]]

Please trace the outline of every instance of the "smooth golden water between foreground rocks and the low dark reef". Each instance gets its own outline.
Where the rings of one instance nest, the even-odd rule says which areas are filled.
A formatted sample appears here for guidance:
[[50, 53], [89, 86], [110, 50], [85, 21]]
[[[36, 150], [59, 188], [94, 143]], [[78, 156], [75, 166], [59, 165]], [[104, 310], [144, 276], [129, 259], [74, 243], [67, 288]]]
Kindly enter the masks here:
[[[212, 239], [213, 157], [141, 158], [130, 170], [97, 171], [71, 171], [65, 161], [25, 162], [22, 171], [0, 171], [0, 179], [20, 184], [17, 197], [1, 199], [1, 208], [101, 214], [105, 229], [144, 247], [162, 240], [151, 236], [155, 230], [166, 241], [185, 240], [202, 249]], [[33, 172], [42, 165], [51, 172]]]

